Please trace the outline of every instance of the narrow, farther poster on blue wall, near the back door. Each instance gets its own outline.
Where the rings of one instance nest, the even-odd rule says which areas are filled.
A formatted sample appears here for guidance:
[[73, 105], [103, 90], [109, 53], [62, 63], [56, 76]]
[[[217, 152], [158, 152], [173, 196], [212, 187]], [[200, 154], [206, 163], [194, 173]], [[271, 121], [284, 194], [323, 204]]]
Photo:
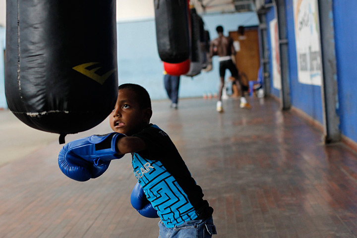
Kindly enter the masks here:
[[273, 87], [281, 89], [281, 72], [280, 72], [280, 54], [279, 54], [279, 35], [278, 35], [278, 22], [273, 19], [269, 23], [270, 26], [270, 44], [272, 54], [272, 67], [273, 67]]

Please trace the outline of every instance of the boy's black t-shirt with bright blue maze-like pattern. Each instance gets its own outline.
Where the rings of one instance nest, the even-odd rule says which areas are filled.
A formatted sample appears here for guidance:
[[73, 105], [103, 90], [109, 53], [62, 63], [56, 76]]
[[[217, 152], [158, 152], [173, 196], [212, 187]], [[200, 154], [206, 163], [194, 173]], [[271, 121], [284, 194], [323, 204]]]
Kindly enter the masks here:
[[210, 217], [213, 209], [170, 137], [153, 124], [133, 136], [146, 144], [145, 150], [132, 153], [134, 175], [166, 227]]

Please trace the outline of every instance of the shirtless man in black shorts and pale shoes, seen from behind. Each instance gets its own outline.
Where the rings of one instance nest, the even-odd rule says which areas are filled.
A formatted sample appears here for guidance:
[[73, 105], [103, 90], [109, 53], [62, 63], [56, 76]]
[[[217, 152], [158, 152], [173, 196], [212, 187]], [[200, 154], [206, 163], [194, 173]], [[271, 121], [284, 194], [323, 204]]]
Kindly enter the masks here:
[[233, 39], [231, 37], [226, 37], [223, 35], [223, 27], [222, 26], [217, 26], [216, 30], [218, 33], [218, 38], [211, 41], [210, 55], [211, 55], [211, 57], [216, 56], [216, 55], [219, 56], [219, 62], [220, 62], [219, 71], [220, 71], [221, 84], [219, 87], [217, 112], [219, 112], [219, 113], [223, 112], [222, 89], [224, 86], [226, 69], [229, 69], [231, 71], [232, 77], [234, 77], [236, 79], [236, 81], [234, 83], [237, 84], [239, 95], [240, 95], [240, 108], [250, 109], [251, 106], [249, 105], [249, 103], [247, 103], [247, 101], [243, 95], [243, 92], [242, 92], [242, 87], [240, 84], [240, 78], [238, 76], [237, 66], [232, 60], [232, 55], [236, 55], [236, 50], [234, 49], [234, 46], [233, 46]]

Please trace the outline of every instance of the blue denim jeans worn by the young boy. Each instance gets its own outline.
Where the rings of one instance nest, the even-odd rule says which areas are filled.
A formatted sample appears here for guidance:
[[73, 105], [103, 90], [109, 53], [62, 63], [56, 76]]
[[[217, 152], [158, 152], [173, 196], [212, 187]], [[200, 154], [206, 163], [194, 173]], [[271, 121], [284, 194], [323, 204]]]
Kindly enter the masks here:
[[182, 223], [174, 228], [165, 227], [159, 222], [159, 238], [211, 238], [217, 234], [212, 217], [206, 220], [193, 220]]

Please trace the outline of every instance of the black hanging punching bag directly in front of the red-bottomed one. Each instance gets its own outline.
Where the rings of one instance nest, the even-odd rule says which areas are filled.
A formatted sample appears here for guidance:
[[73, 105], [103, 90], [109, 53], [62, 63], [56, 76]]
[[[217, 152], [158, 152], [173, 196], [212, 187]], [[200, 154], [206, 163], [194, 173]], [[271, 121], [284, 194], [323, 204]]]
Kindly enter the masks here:
[[154, 0], [156, 39], [159, 57], [168, 63], [189, 58], [186, 0]]

